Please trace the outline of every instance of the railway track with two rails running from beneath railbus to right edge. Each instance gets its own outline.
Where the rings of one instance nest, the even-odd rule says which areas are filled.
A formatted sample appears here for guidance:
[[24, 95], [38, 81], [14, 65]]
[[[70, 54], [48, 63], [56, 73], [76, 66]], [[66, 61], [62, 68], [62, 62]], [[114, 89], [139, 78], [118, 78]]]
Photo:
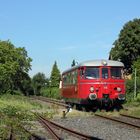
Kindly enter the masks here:
[[112, 120], [115, 122], [119, 122], [119, 123], [122, 123], [125, 125], [129, 125], [130, 127], [140, 129], [140, 118], [137, 118], [137, 117], [128, 116], [125, 114], [120, 114], [120, 116], [118, 116], [118, 117], [114, 117], [114, 116], [108, 117], [106, 115], [99, 115], [99, 114], [95, 114], [95, 116], [104, 118], [104, 119], [108, 119], [108, 120]]

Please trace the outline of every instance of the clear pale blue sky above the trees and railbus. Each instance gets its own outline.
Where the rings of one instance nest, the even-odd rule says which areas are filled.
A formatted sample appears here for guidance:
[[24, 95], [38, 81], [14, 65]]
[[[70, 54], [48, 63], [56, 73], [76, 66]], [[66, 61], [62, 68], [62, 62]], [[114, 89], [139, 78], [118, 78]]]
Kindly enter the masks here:
[[30, 76], [62, 73], [73, 59], [108, 59], [124, 24], [140, 18], [139, 0], [0, 0], [0, 40], [25, 47]]

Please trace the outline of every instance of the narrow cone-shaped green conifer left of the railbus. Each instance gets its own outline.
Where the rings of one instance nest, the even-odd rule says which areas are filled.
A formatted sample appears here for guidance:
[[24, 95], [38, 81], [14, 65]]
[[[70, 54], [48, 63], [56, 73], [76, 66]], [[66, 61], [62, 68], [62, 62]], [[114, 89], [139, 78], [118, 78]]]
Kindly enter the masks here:
[[50, 76], [50, 86], [51, 87], [59, 87], [59, 82], [61, 79], [60, 71], [57, 67], [57, 62], [55, 61], [52, 71], [51, 71], [51, 76]]

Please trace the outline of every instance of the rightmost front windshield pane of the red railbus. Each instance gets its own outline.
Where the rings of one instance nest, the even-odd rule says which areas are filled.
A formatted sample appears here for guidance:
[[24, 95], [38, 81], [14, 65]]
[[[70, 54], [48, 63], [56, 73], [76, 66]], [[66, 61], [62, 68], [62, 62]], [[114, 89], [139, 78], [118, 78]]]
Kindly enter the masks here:
[[122, 68], [111, 68], [110, 71], [111, 71], [112, 79], [122, 79], [123, 78]]

